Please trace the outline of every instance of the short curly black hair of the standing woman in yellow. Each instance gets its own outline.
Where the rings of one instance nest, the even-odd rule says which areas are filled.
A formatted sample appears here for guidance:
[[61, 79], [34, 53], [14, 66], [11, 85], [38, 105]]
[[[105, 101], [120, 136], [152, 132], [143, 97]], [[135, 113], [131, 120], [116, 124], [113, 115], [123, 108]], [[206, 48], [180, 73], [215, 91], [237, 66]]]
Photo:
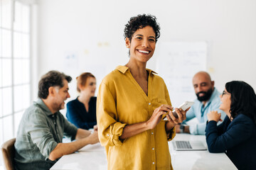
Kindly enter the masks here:
[[128, 38], [131, 42], [132, 35], [136, 32], [136, 30], [146, 26], [151, 26], [151, 28], [153, 28], [157, 41], [157, 39], [160, 37], [160, 26], [159, 23], [156, 23], [156, 17], [151, 16], [150, 14], [142, 14], [130, 18], [124, 28], [124, 39]]

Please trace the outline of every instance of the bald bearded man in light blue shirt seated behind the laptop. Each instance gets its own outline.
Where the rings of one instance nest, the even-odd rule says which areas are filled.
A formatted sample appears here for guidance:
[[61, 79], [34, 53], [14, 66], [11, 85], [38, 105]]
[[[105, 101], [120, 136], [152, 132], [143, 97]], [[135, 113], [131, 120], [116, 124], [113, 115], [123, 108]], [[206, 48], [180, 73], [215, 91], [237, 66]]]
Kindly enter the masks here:
[[[181, 125], [176, 125], [176, 132], [186, 132], [192, 135], [205, 135], [207, 116], [210, 111], [221, 113], [221, 119], [224, 120], [225, 113], [220, 111], [220, 93], [214, 87], [214, 81], [211, 81], [207, 72], [198, 72], [193, 77], [193, 88], [197, 99], [189, 111], [186, 113], [186, 120]], [[197, 118], [198, 123], [186, 125], [188, 120]]]

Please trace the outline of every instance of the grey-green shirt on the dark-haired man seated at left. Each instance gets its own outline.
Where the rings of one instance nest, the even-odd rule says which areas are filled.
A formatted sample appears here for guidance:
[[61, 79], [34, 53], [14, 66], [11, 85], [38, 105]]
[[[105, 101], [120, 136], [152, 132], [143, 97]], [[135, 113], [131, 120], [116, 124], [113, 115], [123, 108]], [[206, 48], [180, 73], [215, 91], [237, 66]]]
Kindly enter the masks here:
[[50, 169], [55, 161], [50, 152], [62, 142], [63, 135], [75, 139], [78, 128], [60, 113], [51, 113], [41, 99], [26, 109], [15, 142], [15, 169]]

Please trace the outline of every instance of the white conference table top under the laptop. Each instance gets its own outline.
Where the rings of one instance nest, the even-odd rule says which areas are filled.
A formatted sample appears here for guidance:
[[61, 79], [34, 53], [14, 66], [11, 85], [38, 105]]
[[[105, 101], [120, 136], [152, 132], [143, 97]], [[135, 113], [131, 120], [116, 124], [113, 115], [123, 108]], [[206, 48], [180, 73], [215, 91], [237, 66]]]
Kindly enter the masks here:
[[[206, 145], [204, 135], [176, 134], [174, 140], [201, 140]], [[171, 163], [174, 170], [233, 170], [237, 169], [225, 153], [211, 154], [204, 151], [175, 151], [169, 142]], [[90, 169], [107, 170], [105, 148], [96, 145], [87, 145], [78, 152], [68, 154], [60, 158], [50, 170], [60, 169]]]

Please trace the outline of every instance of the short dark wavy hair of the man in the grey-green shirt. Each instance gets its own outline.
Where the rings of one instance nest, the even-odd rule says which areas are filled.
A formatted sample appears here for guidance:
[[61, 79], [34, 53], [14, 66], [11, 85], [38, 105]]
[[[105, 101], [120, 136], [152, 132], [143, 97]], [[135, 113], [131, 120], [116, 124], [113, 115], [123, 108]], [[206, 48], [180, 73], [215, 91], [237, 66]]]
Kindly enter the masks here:
[[41, 80], [38, 83], [38, 98], [46, 99], [49, 95], [48, 89], [50, 86], [64, 86], [63, 79], [66, 79], [68, 83], [72, 78], [64, 73], [52, 70], [41, 77]]

